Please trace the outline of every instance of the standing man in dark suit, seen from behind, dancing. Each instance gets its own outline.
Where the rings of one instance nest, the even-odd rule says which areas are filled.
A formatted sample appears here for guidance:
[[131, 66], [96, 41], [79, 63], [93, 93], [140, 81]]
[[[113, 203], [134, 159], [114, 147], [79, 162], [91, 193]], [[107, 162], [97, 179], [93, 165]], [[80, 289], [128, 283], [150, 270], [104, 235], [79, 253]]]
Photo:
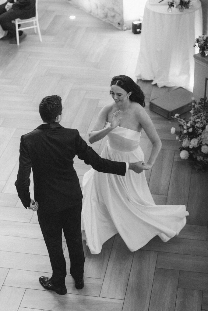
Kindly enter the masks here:
[[[46, 96], [39, 105], [43, 123], [22, 135], [19, 170], [15, 186], [24, 207], [37, 211], [48, 249], [52, 277], [39, 281], [47, 290], [65, 295], [66, 262], [62, 250], [62, 229], [70, 257], [70, 273], [75, 287], [84, 286], [84, 252], [81, 237], [82, 192], [73, 167], [75, 155], [100, 172], [125, 175], [128, 169], [140, 173], [141, 162], [124, 163], [102, 159], [80, 137], [78, 130], [62, 127], [61, 98]], [[33, 171], [34, 202], [30, 198], [30, 173]]]

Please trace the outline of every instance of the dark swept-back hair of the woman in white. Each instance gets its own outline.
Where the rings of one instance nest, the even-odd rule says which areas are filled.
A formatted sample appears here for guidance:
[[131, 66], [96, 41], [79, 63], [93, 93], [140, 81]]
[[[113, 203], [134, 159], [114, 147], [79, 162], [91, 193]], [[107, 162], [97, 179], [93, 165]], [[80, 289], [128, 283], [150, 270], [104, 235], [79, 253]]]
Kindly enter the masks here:
[[132, 92], [129, 96], [131, 101], [135, 101], [142, 107], [145, 107], [144, 93], [141, 88], [128, 76], [120, 75], [113, 77], [110, 86], [117, 85], [127, 93]]

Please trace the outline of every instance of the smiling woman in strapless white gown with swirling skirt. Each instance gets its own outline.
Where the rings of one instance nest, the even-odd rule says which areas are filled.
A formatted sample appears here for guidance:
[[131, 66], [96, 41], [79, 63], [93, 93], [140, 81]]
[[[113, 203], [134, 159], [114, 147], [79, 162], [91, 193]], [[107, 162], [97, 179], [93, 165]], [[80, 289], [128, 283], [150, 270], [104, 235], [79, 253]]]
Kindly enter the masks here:
[[[143, 170], [151, 169], [161, 149], [161, 140], [146, 113], [140, 87], [124, 75], [111, 81], [114, 100], [99, 113], [89, 133], [94, 143], [106, 135], [101, 153], [113, 161], [140, 161], [141, 173], [131, 170], [125, 176], [104, 174], [90, 169], [83, 177], [82, 236], [92, 254], [119, 233], [130, 251], [136, 251], [158, 235], [167, 242], [186, 224], [185, 205], [156, 205]], [[142, 131], [152, 143], [148, 162], [139, 146]]]

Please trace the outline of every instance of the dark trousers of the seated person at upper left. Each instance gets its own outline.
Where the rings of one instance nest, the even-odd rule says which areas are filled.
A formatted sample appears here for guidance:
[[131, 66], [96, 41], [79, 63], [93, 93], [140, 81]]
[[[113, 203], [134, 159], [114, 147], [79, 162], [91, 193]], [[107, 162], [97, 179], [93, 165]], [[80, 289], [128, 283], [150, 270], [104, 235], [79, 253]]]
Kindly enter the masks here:
[[[3, 30], [7, 30], [11, 37], [16, 37], [15, 24], [12, 23], [16, 18], [27, 19], [33, 17], [28, 10], [5, 10], [5, 3], [0, 5], [0, 25]], [[22, 31], [19, 31], [19, 35], [22, 35]]]

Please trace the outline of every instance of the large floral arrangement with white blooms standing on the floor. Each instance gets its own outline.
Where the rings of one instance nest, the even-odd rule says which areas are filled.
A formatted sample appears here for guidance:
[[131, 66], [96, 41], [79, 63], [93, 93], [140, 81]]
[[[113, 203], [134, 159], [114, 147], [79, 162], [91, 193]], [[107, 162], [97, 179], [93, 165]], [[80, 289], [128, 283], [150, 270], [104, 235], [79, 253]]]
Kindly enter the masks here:
[[183, 160], [192, 159], [196, 169], [208, 169], [208, 100], [200, 98], [197, 103], [192, 98], [191, 117], [180, 118], [179, 114], [173, 117], [179, 123], [180, 131], [171, 128], [171, 134], [181, 142], [180, 157]]

